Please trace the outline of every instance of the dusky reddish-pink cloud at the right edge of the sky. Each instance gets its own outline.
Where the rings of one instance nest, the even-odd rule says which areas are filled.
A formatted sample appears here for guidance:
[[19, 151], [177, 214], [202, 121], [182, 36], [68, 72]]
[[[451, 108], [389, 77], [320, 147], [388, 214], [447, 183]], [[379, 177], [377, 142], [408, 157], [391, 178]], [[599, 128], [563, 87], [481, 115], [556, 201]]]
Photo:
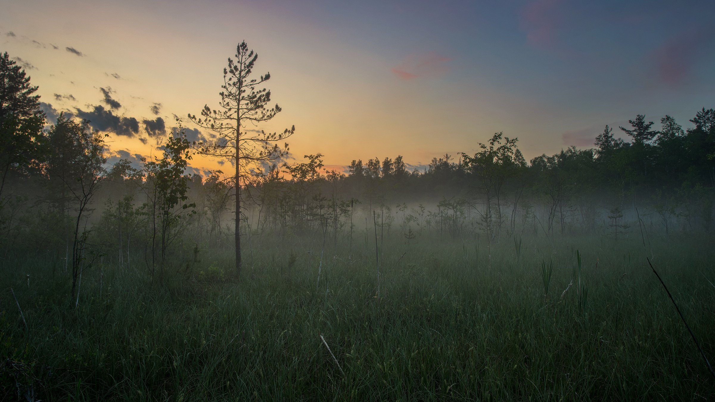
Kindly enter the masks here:
[[698, 27], [664, 42], [648, 57], [659, 82], [678, 87], [686, 82], [696, 64], [715, 50], [715, 29]]

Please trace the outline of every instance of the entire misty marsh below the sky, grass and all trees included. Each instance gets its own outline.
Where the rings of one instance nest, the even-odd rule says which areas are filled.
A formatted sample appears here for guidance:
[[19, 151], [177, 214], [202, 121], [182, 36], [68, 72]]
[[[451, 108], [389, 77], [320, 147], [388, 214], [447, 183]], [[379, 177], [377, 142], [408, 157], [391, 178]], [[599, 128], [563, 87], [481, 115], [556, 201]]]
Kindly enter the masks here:
[[[237, 52], [227, 110], [272, 117]], [[22, 100], [0, 105], [7, 400], [715, 397], [713, 109], [529, 162], [496, 133], [328, 171], [273, 144], [294, 127], [194, 141], [181, 121], [160, 155], [112, 160], [0, 59]], [[201, 154], [235, 174], [190, 175]]]

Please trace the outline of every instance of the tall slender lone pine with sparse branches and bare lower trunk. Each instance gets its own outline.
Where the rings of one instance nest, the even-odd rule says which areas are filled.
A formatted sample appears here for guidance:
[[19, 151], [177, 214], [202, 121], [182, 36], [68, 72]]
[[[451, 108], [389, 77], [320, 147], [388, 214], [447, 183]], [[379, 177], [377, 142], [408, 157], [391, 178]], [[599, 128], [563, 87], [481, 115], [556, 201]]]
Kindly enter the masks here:
[[269, 109], [270, 91], [259, 85], [270, 79], [270, 73], [251, 78], [252, 70], [258, 54], [248, 49], [245, 41], [236, 46], [236, 60], [228, 59], [228, 68], [224, 69], [224, 89], [219, 93], [220, 109], [204, 106], [201, 116], [189, 114], [192, 122], [205, 129], [211, 129], [218, 137], [215, 140], [199, 142], [201, 155], [220, 157], [233, 162], [236, 168], [236, 272], [241, 270], [241, 177], [250, 171], [250, 167], [262, 163], [272, 163], [288, 154], [288, 144], [280, 147], [277, 142], [290, 137], [295, 132], [295, 126], [285, 129], [282, 133], [260, 133], [247, 131], [248, 124], [267, 122], [280, 112], [280, 107]]

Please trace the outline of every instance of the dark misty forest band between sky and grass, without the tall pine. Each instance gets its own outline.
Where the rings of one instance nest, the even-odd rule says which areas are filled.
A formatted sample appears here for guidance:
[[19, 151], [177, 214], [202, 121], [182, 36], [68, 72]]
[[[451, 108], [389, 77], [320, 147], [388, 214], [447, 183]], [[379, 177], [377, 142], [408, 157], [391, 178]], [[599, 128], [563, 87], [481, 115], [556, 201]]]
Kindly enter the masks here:
[[[163, 155], [110, 165], [104, 132], [63, 114], [46, 121], [24, 70], [6, 53], [0, 69], [2, 253], [35, 250], [77, 264], [94, 253], [161, 267], [179, 243], [232, 247], [235, 179], [187, 175], [196, 144], [182, 129], [165, 139]], [[429, 233], [618, 240], [646, 224], [664, 235], [711, 231], [714, 109], [696, 112], [687, 130], [670, 116], [660, 129], [648, 120], [638, 114], [631, 127], [606, 126], [591, 149], [528, 162], [516, 138], [497, 133], [475, 154], [435, 158], [423, 171], [408, 171], [401, 156], [353, 160], [347, 175], [324, 170], [320, 154], [256, 165], [240, 183], [242, 237], [352, 239], [374, 225], [405, 242]]]

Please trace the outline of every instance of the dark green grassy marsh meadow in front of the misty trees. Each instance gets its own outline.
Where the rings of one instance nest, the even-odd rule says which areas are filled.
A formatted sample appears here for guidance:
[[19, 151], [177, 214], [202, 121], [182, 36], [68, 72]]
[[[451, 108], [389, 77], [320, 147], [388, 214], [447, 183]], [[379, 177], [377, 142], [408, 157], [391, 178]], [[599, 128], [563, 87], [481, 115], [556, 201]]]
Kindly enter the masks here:
[[105, 257], [79, 300], [64, 260], [1, 260], [4, 400], [715, 398], [646, 262], [715, 361], [712, 239], [386, 238], [379, 297], [374, 238], [328, 240], [322, 264], [322, 238], [253, 242], [240, 278], [232, 250], [161, 283]]

